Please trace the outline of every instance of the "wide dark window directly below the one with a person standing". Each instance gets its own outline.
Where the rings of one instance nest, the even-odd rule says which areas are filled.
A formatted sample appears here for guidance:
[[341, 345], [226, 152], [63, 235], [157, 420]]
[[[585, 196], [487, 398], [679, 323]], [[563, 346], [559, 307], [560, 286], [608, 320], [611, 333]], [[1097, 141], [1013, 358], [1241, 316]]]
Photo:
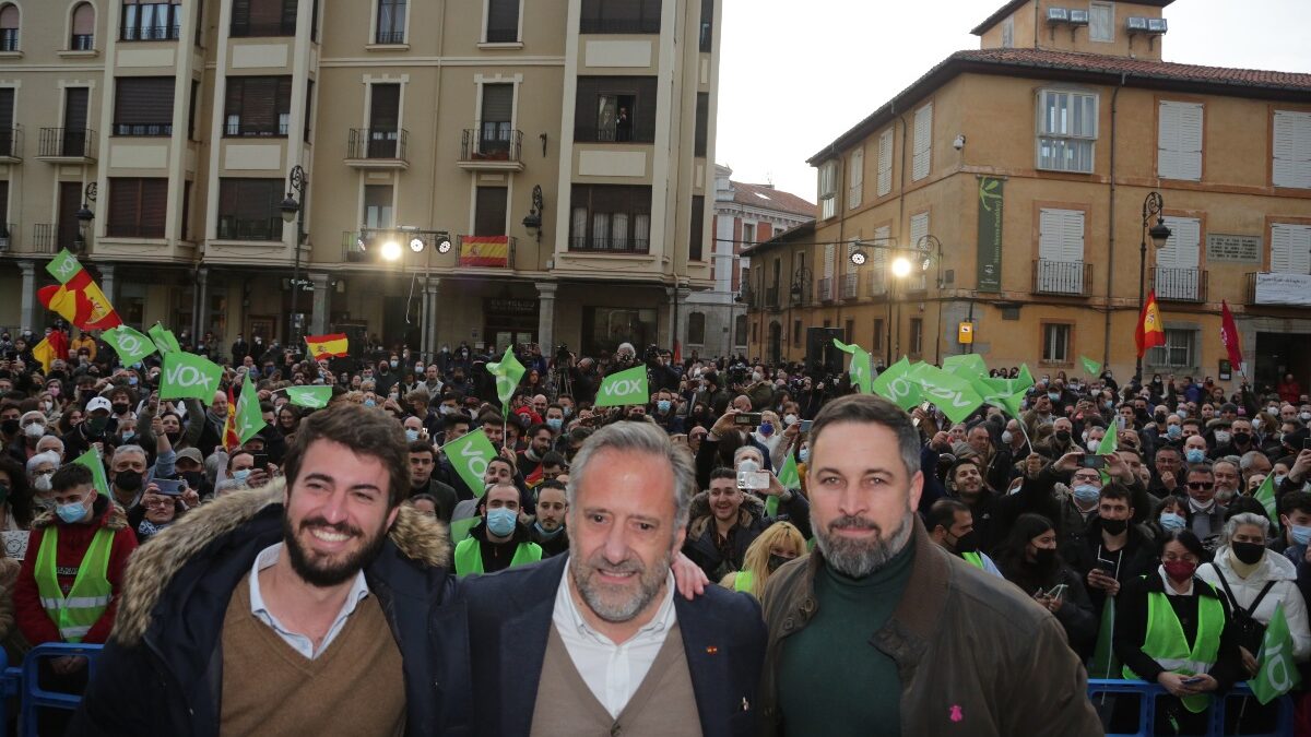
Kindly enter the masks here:
[[570, 250], [650, 250], [652, 188], [574, 185]]

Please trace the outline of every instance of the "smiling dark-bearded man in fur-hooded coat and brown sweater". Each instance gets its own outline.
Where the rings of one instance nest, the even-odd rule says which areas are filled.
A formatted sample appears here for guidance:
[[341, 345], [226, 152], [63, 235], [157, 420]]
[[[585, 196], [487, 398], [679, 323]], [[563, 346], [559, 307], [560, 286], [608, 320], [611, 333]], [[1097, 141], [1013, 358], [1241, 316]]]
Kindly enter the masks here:
[[302, 422], [284, 487], [160, 532], [132, 559], [71, 733], [471, 729], [464, 618], [442, 606], [450, 542], [401, 506], [408, 467], [400, 425], [343, 403]]

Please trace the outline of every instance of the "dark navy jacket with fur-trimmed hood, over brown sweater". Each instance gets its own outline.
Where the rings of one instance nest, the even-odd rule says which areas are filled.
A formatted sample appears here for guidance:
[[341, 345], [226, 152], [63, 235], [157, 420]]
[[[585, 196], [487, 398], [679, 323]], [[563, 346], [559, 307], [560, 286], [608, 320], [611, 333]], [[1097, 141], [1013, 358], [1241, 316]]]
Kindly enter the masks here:
[[[223, 619], [256, 556], [283, 539], [283, 481], [190, 511], [134, 556], [113, 637], [72, 734], [218, 736]], [[471, 729], [468, 627], [446, 526], [406, 506], [364, 568], [402, 657], [405, 734]], [[160, 694], [168, 698], [160, 698]]]

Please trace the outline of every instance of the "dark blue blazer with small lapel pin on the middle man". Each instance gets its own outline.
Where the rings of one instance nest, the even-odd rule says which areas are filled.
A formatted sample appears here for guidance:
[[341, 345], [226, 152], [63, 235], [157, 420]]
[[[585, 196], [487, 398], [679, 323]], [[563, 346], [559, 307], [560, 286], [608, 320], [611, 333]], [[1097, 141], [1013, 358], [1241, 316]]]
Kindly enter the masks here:
[[[531, 732], [556, 591], [568, 561], [568, 555], [560, 555], [461, 581], [479, 734], [527, 737]], [[747, 594], [707, 586], [691, 602], [674, 591], [674, 611], [701, 733], [758, 734], [755, 692], [766, 644], [760, 606]]]

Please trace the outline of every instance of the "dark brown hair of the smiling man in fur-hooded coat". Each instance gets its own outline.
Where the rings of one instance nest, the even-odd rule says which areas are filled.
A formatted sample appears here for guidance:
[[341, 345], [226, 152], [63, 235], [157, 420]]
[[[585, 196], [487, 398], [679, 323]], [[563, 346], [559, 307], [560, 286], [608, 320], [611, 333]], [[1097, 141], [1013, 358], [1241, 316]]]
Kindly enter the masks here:
[[388, 509], [395, 509], [409, 493], [409, 447], [400, 422], [362, 404], [343, 403], [315, 412], [300, 422], [284, 463], [288, 494], [300, 477], [305, 452], [317, 441], [337, 442], [358, 455], [380, 460], [389, 476]]

